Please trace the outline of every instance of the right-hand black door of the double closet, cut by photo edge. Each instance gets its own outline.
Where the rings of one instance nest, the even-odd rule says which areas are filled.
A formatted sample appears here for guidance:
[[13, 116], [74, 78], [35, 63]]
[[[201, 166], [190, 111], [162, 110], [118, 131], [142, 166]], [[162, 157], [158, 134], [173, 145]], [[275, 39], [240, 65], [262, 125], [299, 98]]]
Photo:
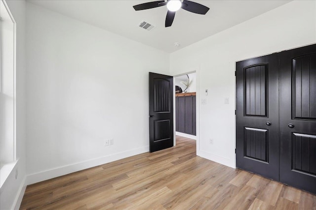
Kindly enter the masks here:
[[316, 45], [280, 53], [280, 181], [316, 193]]

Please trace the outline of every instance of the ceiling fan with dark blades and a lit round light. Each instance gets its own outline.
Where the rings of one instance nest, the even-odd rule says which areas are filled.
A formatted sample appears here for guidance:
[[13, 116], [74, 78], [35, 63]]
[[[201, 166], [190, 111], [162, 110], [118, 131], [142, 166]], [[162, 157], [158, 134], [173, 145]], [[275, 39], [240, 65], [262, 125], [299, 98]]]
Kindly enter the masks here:
[[168, 12], [166, 16], [165, 21], [165, 27], [170, 27], [172, 25], [174, 16], [176, 14], [176, 11], [178, 11], [180, 8], [187, 10], [189, 12], [193, 12], [196, 14], [205, 15], [206, 12], [209, 10], [207, 6], [204, 6], [202, 4], [190, 1], [190, 0], [157, 0], [147, 3], [141, 3], [137, 4], [134, 7], [136, 11], [138, 10], [144, 10], [144, 9], [151, 9], [156, 8], [159, 6], [167, 5]]

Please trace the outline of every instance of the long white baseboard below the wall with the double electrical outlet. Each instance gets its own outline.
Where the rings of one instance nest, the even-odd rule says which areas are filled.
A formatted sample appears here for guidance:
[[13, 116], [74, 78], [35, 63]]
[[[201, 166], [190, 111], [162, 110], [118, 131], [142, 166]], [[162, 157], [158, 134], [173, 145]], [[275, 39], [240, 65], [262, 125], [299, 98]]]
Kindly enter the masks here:
[[99, 158], [95, 158], [95, 159], [91, 159], [91, 160], [87, 160], [87, 161], [83, 161], [83, 162], [79, 162], [79, 163], [75, 163], [71, 165], [62, 166], [59, 168], [50, 169], [47, 171], [42, 171], [35, 174], [30, 174], [27, 176], [26, 185], [60, 177], [66, 174], [70, 174], [70, 173], [74, 173], [74, 172], [88, 169], [91, 167], [99, 166], [105, 163], [113, 162], [119, 159], [123, 159], [126, 157], [130, 157], [130, 156], [141, 154], [148, 151], [149, 151], [149, 146], [146, 146], [146, 147], [141, 147], [141, 148], [137, 148], [133, 150], [127, 150], [127, 151], [118, 152], [115, 154], [106, 155], [103, 157], [99, 157]]

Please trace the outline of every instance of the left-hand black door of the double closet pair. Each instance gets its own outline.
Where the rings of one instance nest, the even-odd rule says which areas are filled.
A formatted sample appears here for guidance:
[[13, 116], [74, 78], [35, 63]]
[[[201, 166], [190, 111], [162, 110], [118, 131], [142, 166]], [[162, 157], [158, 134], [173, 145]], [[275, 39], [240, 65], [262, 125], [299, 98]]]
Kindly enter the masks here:
[[236, 166], [279, 179], [278, 59], [236, 63]]

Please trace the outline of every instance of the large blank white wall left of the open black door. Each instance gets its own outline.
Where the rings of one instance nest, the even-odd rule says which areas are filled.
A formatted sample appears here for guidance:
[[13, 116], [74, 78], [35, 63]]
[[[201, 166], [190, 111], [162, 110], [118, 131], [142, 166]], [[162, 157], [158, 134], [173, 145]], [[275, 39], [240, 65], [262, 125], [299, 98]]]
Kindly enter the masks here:
[[29, 2], [26, 38], [28, 184], [149, 151], [148, 72], [169, 54]]

